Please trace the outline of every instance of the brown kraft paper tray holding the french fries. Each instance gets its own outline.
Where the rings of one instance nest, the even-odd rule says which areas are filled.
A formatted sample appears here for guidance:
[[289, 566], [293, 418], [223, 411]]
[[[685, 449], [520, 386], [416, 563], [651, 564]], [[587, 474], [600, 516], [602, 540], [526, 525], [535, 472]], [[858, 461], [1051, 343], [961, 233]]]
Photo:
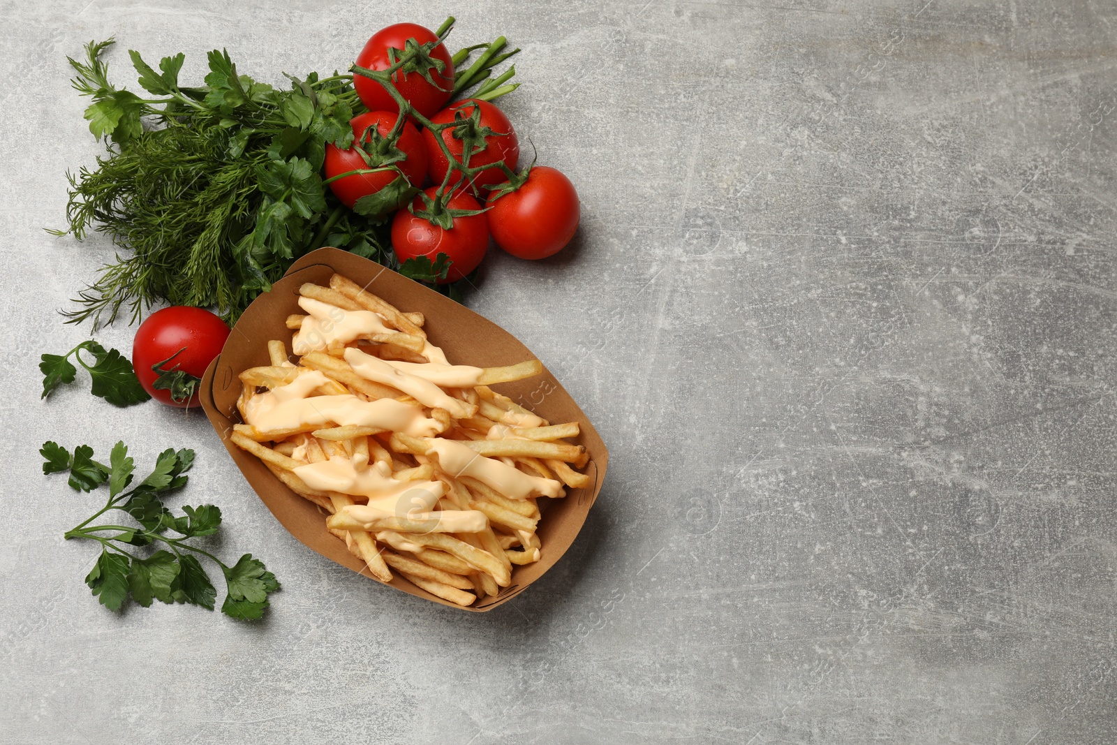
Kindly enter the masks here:
[[[494, 367], [532, 360], [535, 355], [512, 334], [448, 297], [379, 264], [336, 248], [319, 248], [300, 258], [275, 284], [270, 293], [260, 295], [245, 311], [229, 334], [221, 354], [210, 364], [202, 379], [201, 401], [206, 416], [256, 494], [292, 535], [323, 556], [369, 576], [364, 563], [353, 556], [342, 541], [326, 532], [325, 515], [317, 506], [293, 493], [256, 457], [229, 440], [232, 426], [240, 421], [236, 409], [237, 397], [240, 394], [237, 375], [248, 367], [269, 364], [268, 340], [284, 340], [290, 350], [292, 332], [286, 327], [285, 319], [293, 313], [303, 313], [297, 303], [298, 287], [307, 281], [328, 285], [330, 277], [335, 271], [380, 295], [401, 311], [422, 312], [426, 316], [423, 328], [431, 343], [441, 346], [454, 364]], [[500, 383], [493, 389], [552, 423], [579, 422], [582, 433], [577, 442], [584, 445], [590, 455], [590, 462], [583, 470], [590, 476], [591, 486], [567, 489], [566, 497], [562, 499], [540, 499], [543, 514], [538, 529], [543, 542], [542, 558], [526, 566], [513, 566], [512, 583], [497, 598], [486, 596], [475, 605], [461, 608], [436, 598], [404, 580], [398, 572], [392, 572], [395, 579], [390, 584], [397, 590], [475, 612], [491, 610], [515, 598], [554, 566], [570, 548], [585, 522], [586, 514], [601, 490], [605, 466], [609, 464], [609, 451], [596, 430], [547, 370], [542, 375], [514, 383]], [[369, 579], [379, 582], [371, 576]], [[370, 588], [370, 591], [376, 592], [379, 589]]]

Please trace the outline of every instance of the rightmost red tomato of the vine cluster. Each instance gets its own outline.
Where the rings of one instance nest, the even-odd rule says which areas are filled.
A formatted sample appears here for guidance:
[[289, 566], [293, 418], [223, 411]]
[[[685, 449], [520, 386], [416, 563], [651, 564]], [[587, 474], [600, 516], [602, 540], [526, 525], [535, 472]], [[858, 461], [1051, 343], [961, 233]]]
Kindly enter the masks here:
[[577, 230], [581, 204], [561, 171], [538, 165], [514, 192], [488, 199], [486, 212], [496, 245], [522, 259], [557, 254]]

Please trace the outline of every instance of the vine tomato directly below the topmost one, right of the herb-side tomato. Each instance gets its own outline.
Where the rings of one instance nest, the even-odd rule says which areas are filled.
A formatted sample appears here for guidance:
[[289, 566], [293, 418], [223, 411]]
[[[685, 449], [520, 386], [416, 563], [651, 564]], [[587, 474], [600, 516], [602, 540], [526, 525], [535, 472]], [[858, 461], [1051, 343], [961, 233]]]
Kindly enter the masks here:
[[[516, 161], [519, 160], [519, 141], [516, 139], [516, 132], [512, 128], [512, 122], [504, 115], [504, 112], [487, 101], [466, 98], [465, 101], [456, 102], [452, 106], [443, 108], [430, 117], [430, 121], [433, 124], [449, 124], [454, 122], [456, 112], [460, 109], [462, 115], [470, 116], [474, 113], [474, 107], [480, 108], [480, 125], [489, 127], [496, 134], [485, 139], [485, 150], [469, 157], [469, 168], [504, 161], [505, 165], [515, 170]], [[446, 172], [450, 168], [450, 161], [447, 160], [442, 149], [438, 146], [438, 141], [435, 140], [435, 134], [430, 130], [423, 130], [422, 136], [427, 143], [427, 156], [430, 159], [430, 166], [428, 169], [430, 179], [435, 183], [442, 183], [442, 179], [446, 178]], [[455, 136], [455, 127], [442, 130], [442, 142], [446, 143], [447, 149], [454, 155], [455, 160], [460, 163], [465, 143]], [[457, 171], [450, 176], [451, 184], [458, 183], [460, 180], [461, 174]], [[508, 176], [500, 169], [491, 168], [474, 176], [474, 185], [478, 189], [487, 189], [493, 184], [507, 180]]]

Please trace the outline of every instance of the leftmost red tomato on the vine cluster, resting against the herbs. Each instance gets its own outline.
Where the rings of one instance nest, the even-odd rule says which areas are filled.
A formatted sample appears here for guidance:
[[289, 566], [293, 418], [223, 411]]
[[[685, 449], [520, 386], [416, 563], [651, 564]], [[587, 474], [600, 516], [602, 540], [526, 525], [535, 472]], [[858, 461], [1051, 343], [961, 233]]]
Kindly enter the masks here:
[[[367, 142], [363, 139], [369, 128], [376, 127], [376, 132], [381, 136], [388, 136], [388, 133], [392, 131], [399, 118], [400, 115], [397, 112], [367, 112], [353, 117], [350, 122], [353, 126], [353, 136], [355, 137], [352, 147], [341, 150], [331, 143], [326, 143], [326, 178], [332, 179], [335, 175], [349, 173], [350, 171], [374, 168], [364, 162], [364, 159], [356, 149], [364, 142]], [[403, 171], [403, 175], [407, 176], [412, 185], [421, 187], [422, 180], [427, 175], [427, 146], [419, 135], [419, 130], [411, 122], [403, 123], [403, 128], [400, 130], [400, 139], [395, 141], [395, 146], [408, 156], [407, 160], [400, 161], [395, 165]], [[373, 155], [373, 162], [375, 163], [375, 155]], [[376, 193], [394, 181], [397, 175], [394, 171], [360, 173], [330, 182], [330, 189], [345, 207], [353, 209], [356, 200], [367, 194]]]

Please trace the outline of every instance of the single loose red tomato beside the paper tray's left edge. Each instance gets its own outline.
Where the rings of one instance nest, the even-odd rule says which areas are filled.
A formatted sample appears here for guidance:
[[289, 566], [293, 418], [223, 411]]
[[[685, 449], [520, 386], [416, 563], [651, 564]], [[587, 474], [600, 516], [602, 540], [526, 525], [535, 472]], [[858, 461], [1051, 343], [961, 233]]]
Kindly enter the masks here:
[[[201, 405], [198, 382], [209, 363], [220, 354], [228, 336], [229, 327], [209, 311], [185, 305], [163, 308], [147, 316], [136, 329], [132, 342], [132, 367], [143, 390], [156, 401], [180, 409], [198, 407]], [[160, 373], [153, 370], [156, 366], [162, 371], [178, 367], [182, 373], [171, 374], [180, 379], [180, 385], [187, 385], [188, 390], [179, 390], [180, 400], [172, 398], [171, 390], [155, 388], [160, 379]], [[191, 378], [198, 381], [193, 388], [189, 386]]]

